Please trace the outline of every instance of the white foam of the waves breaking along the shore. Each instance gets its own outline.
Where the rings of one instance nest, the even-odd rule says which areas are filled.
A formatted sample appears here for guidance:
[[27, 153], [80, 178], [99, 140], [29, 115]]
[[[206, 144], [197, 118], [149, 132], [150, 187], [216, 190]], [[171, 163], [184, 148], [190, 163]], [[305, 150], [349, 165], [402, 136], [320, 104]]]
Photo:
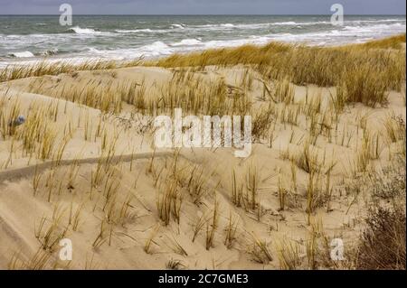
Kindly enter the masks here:
[[[277, 22], [277, 23], [217, 23], [217, 24], [206, 24], [206, 25], [188, 25], [185, 26], [184, 24], [176, 24], [182, 26], [185, 30], [177, 30], [175, 29], [176, 26], [173, 26], [173, 29], [134, 29], [134, 30], [117, 30], [116, 32], [109, 33], [109, 36], [116, 35], [117, 37], [120, 36], [120, 33], [141, 33], [142, 37], [147, 37], [147, 33], [152, 33], [152, 35], [148, 35], [148, 39], [151, 37], [151, 42], [144, 44], [143, 46], [139, 47], [131, 47], [131, 48], [119, 48], [116, 49], [114, 46], [110, 48], [110, 50], [102, 50], [98, 46], [95, 48], [90, 48], [86, 51], [80, 49], [82, 52], [78, 52], [71, 55], [66, 55], [66, 57], [70, 57], [70, 60], [75, 61], [82, 61], [82, 60], [90, 60], [95, 57], [102, 60], [132, 60], [137, 59], [138, 57], [145, 57], [145, 58], [155, 58], [161, 56], [167, 56], [172, 53], [184, 53], [189, 51], [203, 51], [205, 49], [216, 49], [216, 48], [227, 48], [227, 47], [237, 47], [244, 44], [266, 44], [268, 42], [276, 41], [276, 42], [303, 42], [308, 45], [340, 45], [349, 42], [365, 42], [372, 39], [383, 38], [386, 36], [391, 36], [397, 33], [405, 32], [405, 22], [402, 23], [393, 23], [392, 21], [383, 21], [379, 23], [356, 23], [354, 22], [345, 22], [344, 27], [336, 26], [336, 27], [322, 27], [315, 29], [314, 31], [309, 31], [307, 33], [295, 33], [292, 30], [279, 30], [273, 29], [271, 26], [273, 25], [287, 25], [292, 27], [297, 27], [298, 24], [304, 23], [295, 23], [295, 22]], [[308, 22], [307, 24], [315, 24], [316, 22]], [[321, 23], [321, 22], [319, 22]], [[259, 29], [259, 28], [267, 28], [270, 27], [270, 30], [262, 30], [261, 34], [253, 31], [253, 33], [246, 33], [246, 36], [240, 35], [233, 35], [231, 33], [229, 39], [222, 39], [217, 40], [216, 38], [212, 41], [203, 42], [198, 35], [201, 33], [191, 33], [193, 30], [199, 31], [202, 30], [225, 30], [228, 31], [230, 28], [232, 29]], [[80, 27], [73, 27], [76, 30], [75, 33], [83, 33], [83, 34], [100, 34], [100, 32], [95, 31], [90, 28], [80, 28]], [[153, 37], [155, 36], [154, 33], [158, 33], [160, 31], [167, 32], [167, 33], [180, 33], [180, 32], [187, 32], [184, 33], [187, 35], [185, 39], [179, 38], [178, 40], [174, 40], [173, 37], [167, 38], [164, 42], [163, 41], [155, 41], [158, 39], [162, 39], [162, 37]], [[276, 31], [281, 31], [280, 33], [276, 33]], [[283, 33], [284, 32], [284, 33]], [[108, 32], [107, 32], [108, 33]], [[104, 32], [102, 33], [104, 34]], [[251, 34], [248, 35], [248, 34]], [[122, 35], [123, 36], [123, 35]], [[44, 38], [45, 37], [45, 38]], [[43, 36], [37, 35], [7, 35], [7, 36], [0, 36], [0, 44], [7, 44], [9, 47], [14, 47], [14, 50], [19, 52], [9, 53], [9, 56], [14, 56], [15, 58], [30, 58], [34, 57], [33, 53], [28, 46], [34, 45], [36, 43], [42, 43], [52, 40], [65, 40], [67, 42], [70, 41], [71, 38], [77, 38], [78, 36], [75, 34], [67, 35], [65, 34], [46, 34]], [[189, 38], [188, 38], [189, 37]], [[233, 39], [234, 37], [234, 39]], [[23, 39], [22, 39], [23, 38]], [[48, 39], [50, 38], [50, 39]], [[205, 37], [207, 38], [207, 37]], [[236, 39], [237, 38], [237, 39]], [[147, 38], [146, 38], [147, 39]], [[176, 39], [176, 38], [175, 38]], [[22, 42], [20, 44], [20, 42]], [[18, 44], [18, 45], [17, 45]], [[14, 46], [12, 46], [14, 45]], [[141, 44], [140, 44], [141, 45]], [[52, 47], [52, 46], [51, 46]], [[83, 48], [83, 47], [82, 47]], [[43, 51], [48, 50], [49, 48], [44, 48]], [[98, 50], [100, 49], [100, 50]], [[38, 50], [37, 50], [38, 51]], [[7, 55], [7, 54], [5, 54]], [[63, 60], [68, 59], [64, 55], [58, 57], [52, 57], [52, 60]], [[28, 60], [10, 60], [9, 61], [30, 61]], [[7, 60], [8, 61], [8, 60]], [[3, 62], [0, 62], [3, 64]]]

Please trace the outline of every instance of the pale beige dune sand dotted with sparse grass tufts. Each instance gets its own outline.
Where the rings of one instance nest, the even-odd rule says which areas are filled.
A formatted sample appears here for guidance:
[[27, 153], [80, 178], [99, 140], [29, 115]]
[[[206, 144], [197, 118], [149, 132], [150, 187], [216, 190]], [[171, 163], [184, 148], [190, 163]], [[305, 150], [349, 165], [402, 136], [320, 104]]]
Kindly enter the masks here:
[[[346, 105], [335, 122], [327, 112], [335, 88], [290, 85], [293, 100], [273, 102], [270, 131], [246, 159], [233, 148], [155, 151], [151, 118], [134, 106], [123, 102], [121, 111], [102, 114], [61, 97], [131, 82], [144, 98], [160, 98], [181, 81], [176, 73], [183, 71], [137, 67], [1, 83], [0, 115], [17, 107], [27, 117], [14, 137], [0, 140], [1, 269], [312, 268], [313, 255], [318, 267], [332, 267], [334, 238], [351, 253], [371, 198], [357, 181], [364, 133], [374, 154], [369, 169], [391, 163], [400, 143], [387, 141], [384, 125], [405, 123], [402, 93], [389, 91], [385, 107]], [[250, 68], [188, 73], [208, 87], [222, 79], [229, 94], [243, 90], [254, 111], [264, 105], [264, 84]], [[308, 135], [313, 106], [317, 140]], [[35, 111], [43, 111], [41, 139], [24, 131]], [[59, 258], [62, 238], [71, 239], [71, 261]]]

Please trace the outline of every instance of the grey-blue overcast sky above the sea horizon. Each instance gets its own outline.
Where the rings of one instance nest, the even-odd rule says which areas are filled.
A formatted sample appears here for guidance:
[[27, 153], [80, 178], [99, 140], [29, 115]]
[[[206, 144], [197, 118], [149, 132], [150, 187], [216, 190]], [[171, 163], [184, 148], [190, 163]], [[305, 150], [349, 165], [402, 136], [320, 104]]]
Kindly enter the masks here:
[[405, 14], [405, 0], [0, 0], [0, 14]]

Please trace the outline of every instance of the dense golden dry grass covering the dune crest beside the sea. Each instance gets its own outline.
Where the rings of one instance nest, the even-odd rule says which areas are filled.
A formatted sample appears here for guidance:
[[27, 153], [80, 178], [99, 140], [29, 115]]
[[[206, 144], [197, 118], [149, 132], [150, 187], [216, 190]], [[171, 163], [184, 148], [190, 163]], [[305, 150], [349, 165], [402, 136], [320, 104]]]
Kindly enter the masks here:
[[[152, 63], [161, 67], [204, 67], [250, 64], [264, 79], [289, 78], [298, 85], [338, 86], [345, 102], [363, 102], [374, 107], [385, 104], [386, 89], [399, 90], [405, 79], [405, 52], [400, 47], [405, 34], [379, 42], [342, 47], [308, 47], [271, 42], [173, 55]], [[372, 48], [395, 48], [381, 50]], [[367, 81], [367, 82], [366, 82]], [[367, 84], [367, 85], [366, 85]], [[280, 100], [290, 101], [289, 86], [279, 86]]]

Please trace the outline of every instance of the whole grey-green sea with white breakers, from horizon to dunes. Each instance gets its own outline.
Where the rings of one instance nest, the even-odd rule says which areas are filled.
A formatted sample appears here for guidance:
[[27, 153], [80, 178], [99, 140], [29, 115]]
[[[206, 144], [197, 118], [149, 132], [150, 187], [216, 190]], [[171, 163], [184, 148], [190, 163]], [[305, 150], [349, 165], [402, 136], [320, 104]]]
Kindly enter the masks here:
[[173, 53], [300, 42], [340, 45], [406, 32], [405, 15], [0, 15], [0, 67], [48, 60], [134, 60]]

